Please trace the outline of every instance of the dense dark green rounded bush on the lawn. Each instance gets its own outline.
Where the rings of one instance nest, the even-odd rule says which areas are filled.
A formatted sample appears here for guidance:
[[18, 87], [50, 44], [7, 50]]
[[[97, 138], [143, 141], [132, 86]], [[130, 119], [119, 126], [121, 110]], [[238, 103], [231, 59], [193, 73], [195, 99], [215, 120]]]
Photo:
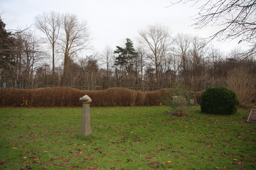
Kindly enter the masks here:
[[233, 114], [239, 106], [237, 94], [225, 87], [208, 88], [201, 96], [201, 112], [209, 114]]

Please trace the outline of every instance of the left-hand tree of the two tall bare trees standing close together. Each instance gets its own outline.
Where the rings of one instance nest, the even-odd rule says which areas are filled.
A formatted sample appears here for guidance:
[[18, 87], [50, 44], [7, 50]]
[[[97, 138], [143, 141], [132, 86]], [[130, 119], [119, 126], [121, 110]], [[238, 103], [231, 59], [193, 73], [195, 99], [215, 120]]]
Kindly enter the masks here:
[[62, 17], [55, 11], [44, 12], [35, 17], [35, 26], [46, 35], [45, 43], [49, 43], [52, 50], [52, 74], [55, 72], [56, 45], [59, 38]]

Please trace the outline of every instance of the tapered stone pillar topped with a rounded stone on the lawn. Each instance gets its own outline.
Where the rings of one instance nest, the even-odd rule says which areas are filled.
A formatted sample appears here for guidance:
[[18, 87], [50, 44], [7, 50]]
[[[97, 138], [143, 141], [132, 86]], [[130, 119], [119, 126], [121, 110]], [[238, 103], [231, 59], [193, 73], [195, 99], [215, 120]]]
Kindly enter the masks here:
[[91, 115], [90, 115], [90, 103], [92, 99], [88, 95], [84, 95], [79, 99], [82, 103], [82, 119], [81, 119], [81, 132], [82, 136], [89, 136], [92, 134], [91, 129]]

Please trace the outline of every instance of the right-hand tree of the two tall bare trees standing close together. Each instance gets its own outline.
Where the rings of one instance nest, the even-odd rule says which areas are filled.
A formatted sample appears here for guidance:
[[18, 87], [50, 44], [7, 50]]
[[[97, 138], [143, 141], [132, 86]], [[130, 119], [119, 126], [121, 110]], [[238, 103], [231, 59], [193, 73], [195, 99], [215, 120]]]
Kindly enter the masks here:
[[69, 60], [82, 50], [89, 49], [91, 34], [86, 21], [79, 21], [75, 14], [63, 15], [63, 34], [61, 36], [64, 53], [63, 75], [67, 74]]

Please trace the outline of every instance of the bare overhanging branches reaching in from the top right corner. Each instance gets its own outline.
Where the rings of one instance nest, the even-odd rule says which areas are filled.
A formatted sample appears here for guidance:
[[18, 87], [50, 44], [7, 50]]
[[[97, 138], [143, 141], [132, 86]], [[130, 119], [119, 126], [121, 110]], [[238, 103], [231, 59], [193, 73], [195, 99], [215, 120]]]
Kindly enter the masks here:
[[[208, 25], [221, 26], [210, 38], [219, 40], [241, 38], [241, 41], [247, 41], [251, 44], [249, 55], [256, 53], [256, 1], [255, 0], [202, 0], [190, 1], [179, 0], [172, 5], [179, 3], [202, 4], [199, 7], [198, 16], [195, 18], [194, 26], [201, 29]], [[172, 6], [170, 5], [170, 6]]]

